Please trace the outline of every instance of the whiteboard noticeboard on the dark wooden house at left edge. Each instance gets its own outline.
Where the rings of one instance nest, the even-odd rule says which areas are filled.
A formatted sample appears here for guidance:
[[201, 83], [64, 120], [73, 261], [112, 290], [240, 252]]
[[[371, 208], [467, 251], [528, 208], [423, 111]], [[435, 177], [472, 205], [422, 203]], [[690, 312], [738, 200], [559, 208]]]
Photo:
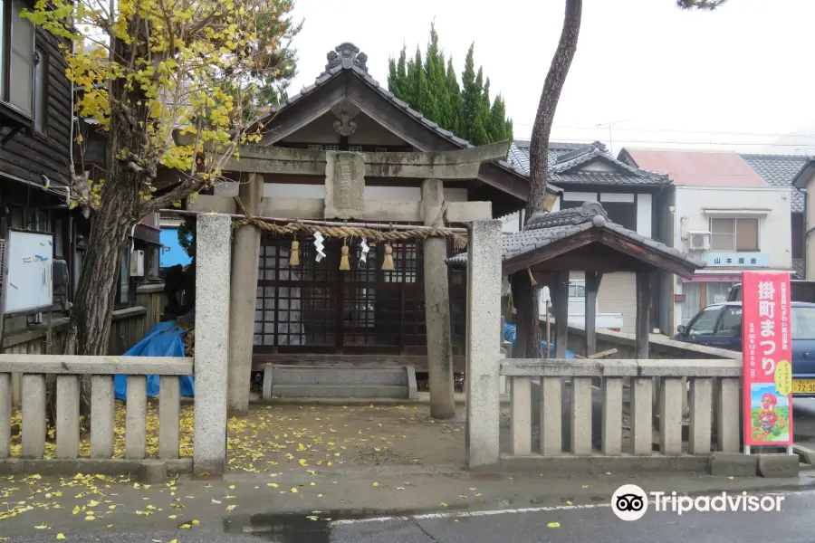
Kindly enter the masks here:
[[33, 313], [53, 304], [53, 234], [9, 230], [3, 312]]

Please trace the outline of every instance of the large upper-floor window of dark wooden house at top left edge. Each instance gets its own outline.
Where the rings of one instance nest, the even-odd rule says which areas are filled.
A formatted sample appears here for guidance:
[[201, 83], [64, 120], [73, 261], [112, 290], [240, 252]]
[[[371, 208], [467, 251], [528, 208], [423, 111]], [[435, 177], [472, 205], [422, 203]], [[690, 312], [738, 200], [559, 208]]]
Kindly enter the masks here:
[[20, 17], [24, 7], [24, 0], [0, 0], [0, 101], [32, 118], [34, 24]]

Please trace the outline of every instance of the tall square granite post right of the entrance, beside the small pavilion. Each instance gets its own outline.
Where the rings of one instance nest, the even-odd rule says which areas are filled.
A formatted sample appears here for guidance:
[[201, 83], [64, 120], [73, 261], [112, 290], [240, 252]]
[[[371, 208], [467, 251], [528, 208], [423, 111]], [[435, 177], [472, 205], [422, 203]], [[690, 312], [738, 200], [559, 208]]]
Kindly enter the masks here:
[[501, 221], [474, 221], [467, 244], [467, 425], [470, 469], [498, 462]]

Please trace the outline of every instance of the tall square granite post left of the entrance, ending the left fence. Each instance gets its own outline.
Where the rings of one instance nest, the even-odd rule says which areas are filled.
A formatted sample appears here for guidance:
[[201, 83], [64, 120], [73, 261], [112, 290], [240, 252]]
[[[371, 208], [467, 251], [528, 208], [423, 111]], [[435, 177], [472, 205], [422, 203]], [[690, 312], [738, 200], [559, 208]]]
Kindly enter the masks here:
[[[226, 471], [230, 219], [199, 214], [196, 225], [196, 400], [193, 471]], [[257, 262], [253, 262], [257, 266]]]

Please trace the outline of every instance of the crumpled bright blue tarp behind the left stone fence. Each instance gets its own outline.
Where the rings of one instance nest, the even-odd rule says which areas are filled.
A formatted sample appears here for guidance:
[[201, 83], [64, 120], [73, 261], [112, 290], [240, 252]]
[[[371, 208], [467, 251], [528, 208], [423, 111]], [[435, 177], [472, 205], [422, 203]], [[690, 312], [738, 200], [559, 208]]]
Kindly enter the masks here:
[[[139, 343], [124, 354], [126, 357], [183, 357], [187, 331], [177, 328], [175, 322], [159, 322]], [[192, 376], [181, 376], [181, 395], [195, 395]], [[128, 397], [128, 376], [113, 377], [117, 400]], [[158, 395], [158, 376], [148, 376], [148, 395]]]

